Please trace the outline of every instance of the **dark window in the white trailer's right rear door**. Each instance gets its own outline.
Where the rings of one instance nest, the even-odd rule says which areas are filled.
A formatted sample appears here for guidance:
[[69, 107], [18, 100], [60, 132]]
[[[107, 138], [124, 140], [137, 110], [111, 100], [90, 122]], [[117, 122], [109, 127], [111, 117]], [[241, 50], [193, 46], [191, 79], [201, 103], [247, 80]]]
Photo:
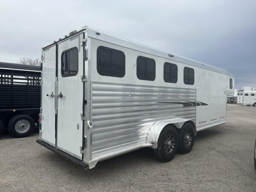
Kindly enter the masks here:
[[73, 47], [61, 54], [61, 76], [76, 76], [78, 72], [78, 49]]

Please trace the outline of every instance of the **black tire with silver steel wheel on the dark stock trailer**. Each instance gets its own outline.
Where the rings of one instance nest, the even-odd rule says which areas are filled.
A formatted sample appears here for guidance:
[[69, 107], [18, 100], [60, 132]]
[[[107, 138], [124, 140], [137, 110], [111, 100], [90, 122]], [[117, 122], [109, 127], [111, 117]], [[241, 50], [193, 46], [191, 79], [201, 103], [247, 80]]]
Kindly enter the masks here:
[[26, 114], [12, 117], [8, 123], [8, 131], [14, 137], [27, 137], [35, 129], [35, 120]]

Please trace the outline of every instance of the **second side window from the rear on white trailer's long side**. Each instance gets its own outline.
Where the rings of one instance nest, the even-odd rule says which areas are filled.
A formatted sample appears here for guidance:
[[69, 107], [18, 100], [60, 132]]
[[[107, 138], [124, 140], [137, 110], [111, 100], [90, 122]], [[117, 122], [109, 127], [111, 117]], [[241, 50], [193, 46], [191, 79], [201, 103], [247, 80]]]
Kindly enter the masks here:
[[156, 78], [156, 63], [154, 59], [139, 56], [137, 57], [138, 79], [154, 81]]

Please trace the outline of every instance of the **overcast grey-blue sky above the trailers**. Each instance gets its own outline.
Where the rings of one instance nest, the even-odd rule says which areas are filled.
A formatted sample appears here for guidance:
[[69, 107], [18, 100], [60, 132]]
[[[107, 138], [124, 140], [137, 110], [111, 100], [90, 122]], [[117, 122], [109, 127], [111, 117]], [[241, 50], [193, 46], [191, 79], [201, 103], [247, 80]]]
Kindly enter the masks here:
[[256, 87], [256, 0], [5, 0], [0, 61], [41, 57], [41, 47], [87, 25], [228, 70], [235, 88]]

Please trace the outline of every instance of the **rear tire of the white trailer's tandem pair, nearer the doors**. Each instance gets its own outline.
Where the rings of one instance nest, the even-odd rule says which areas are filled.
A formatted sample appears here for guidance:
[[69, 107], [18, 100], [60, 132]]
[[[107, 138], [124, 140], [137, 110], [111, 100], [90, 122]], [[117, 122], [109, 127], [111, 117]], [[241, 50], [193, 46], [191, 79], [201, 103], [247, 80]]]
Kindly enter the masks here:
[[153, 149], [153, 153], [157, 160], [168, 162], [175, 156], [178, 145], [178, 133], [174, 127], [168, 125], [161, 131], [157, 141], [157, 148]]

